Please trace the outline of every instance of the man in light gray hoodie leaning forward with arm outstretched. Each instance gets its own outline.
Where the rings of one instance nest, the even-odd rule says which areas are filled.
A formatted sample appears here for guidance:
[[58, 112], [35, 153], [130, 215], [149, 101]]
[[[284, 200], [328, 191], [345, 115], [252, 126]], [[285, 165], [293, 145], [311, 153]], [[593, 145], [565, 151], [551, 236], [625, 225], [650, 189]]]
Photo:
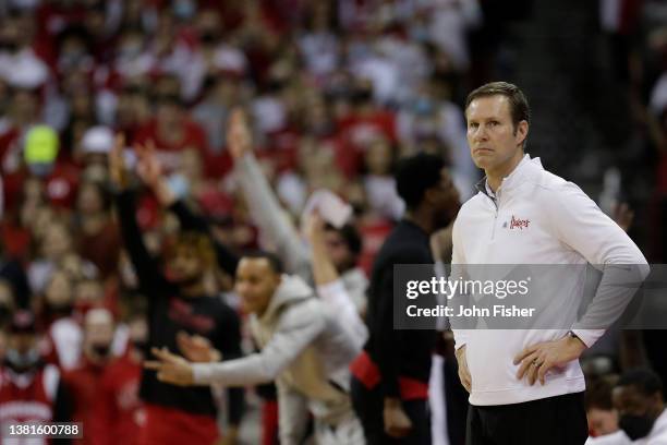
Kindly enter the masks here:
[[317, 444], [363, 444], [349, 395], [348, 365], [359, 348], [338, 313], [303, 279], [282, 274], [280, 260], [269, 253], [241, 258], [235, 289], [251, 313], [260, 352], [192, 364], [154, 348], [159, 361], [146, 366], [157, 371], [158, 381], [175, 385], [245, 386], [276, 381], [282, 445], [303, 443], [308, 411], [315, 419]]

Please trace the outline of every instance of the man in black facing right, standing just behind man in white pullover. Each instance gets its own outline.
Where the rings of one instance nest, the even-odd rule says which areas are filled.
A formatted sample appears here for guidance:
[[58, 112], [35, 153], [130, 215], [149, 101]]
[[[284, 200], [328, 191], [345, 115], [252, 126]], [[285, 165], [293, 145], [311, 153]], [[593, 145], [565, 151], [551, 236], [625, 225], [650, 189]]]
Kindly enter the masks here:
[[352, 398], [368, 444], [429, 444], [428, 377], [436, 333], [393, 328], [393, 266], [434, 263], [429, 236], [456, 217], [459, 195], [442, 159], [426, 154], [399, 164], [396, 187], [407, 212], [373, 264], [369, 338], [352, 364]]

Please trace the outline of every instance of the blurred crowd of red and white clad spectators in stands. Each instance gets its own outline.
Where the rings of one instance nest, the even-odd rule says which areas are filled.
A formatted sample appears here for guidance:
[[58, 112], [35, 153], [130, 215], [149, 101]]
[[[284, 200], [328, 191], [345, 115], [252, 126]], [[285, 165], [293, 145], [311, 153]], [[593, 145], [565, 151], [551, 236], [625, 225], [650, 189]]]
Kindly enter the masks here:
[[[283, 207], [296, 220], [314, 190], [344, 197], [368, 272], [404, 208], [397, 159], [442, 156], [461, 199], [474, 193], [463, 105], [495, 80], [529, 98], [527, 153], [605, 212], [627, 203], [630, 236], [664, 263], [667, 1], [0, 1], [0, 357], [19, 308], [36, 313], [44, 359], [80, 392], [82, 375], [95, 384], [114, 357], [141, 350], [146, 304], [108, 187], [116, 133], [155, 142], [171, 188], [220, 241], [267, 248], [226, 149], [230, 111], [243, 107]], [[173, 218], [150, 193], [137, 218], [157, 253]], [[98, 306], [112, 320], [97, 313], [90, 329], [116, 333], [96, 353], [83, 321]], [[641, 360], [665, 378], [664, 353], [651, 356], [663, 335], [645, 334]], [[590, 372], [621, 371], [611, 345]], [[136, 387], [110, 390], [141, 405]]]

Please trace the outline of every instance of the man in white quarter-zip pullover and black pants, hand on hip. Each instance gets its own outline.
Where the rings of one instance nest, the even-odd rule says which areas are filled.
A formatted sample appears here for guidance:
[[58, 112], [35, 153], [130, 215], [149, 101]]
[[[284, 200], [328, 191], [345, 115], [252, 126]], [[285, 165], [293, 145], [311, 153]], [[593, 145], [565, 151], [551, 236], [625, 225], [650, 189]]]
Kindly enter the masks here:
[[[475, 89], [465, 118], [472, 158], [486, 178], [454, 222], [452, 269], [457, 264], [590, 263], [603, 272], [595, 297], [571, 325], [473, 330], [452, 324], [459, 376], [470, 392], [468, 444], [583, 444], [585, 384], [578, 359], [632, 298], [632, 289], [609, 282], [615, 268], [641, 282], [646, 260], [577, 185], [524, 154], [530, 110], [517, 86], [495, 82]], [[568, 277], [559, 285], [541, 291], [569, 292], [562, 313], [571, 314], [583, 280]]]

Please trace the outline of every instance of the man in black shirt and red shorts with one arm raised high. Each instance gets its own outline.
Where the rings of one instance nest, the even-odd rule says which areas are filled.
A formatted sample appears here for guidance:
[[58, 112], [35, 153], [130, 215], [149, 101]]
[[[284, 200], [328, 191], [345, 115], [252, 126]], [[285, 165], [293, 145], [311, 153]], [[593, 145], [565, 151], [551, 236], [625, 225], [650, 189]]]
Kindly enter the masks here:
[[[144, 244], [135, 218], [133, 193], [129, 189], [129, 171], [123, 158], [123, 141], [119, 137], [109, 157], [109, 172], [120, 190], [117, 196], [119, 219], [125, 248], [136, 272], [140, 290], [148, 298], [148, 345], [182, 348], [183, 338], [203, 337], [213, 349], [197, 354], [196, 360], [214, 361], [220, 353], [227, 359], [241, 356], [240, 321], [237, 313], [207, 291], [206, 273], [218, 262], [227, 264], [233, 273], [238, 258], [217, 252], [207, 234], [183, 231], [166, 254], [167, 272], [162, 273], [157, 260]], [[189, 209], [177, 202], [171, 207], [182, 222]], [[221, 246], [218, 246], [221, 248]], [[168, 277], [167, 277], [168, 276]], [[215, 349], [215, 350], [214, 350]], [[194, 356], [191, 356], [195, 359]], [[230, 423], [238, 424], [242, 412], [242, 393], [230, 393]], [[144, 372], [140, 396], [145, 401], [146, 424], [142, 429], [141, 444], [213, 444], [218, 438], [217, 407], [210, 388], [181, 388], [159, 382], [154, 373]]]

